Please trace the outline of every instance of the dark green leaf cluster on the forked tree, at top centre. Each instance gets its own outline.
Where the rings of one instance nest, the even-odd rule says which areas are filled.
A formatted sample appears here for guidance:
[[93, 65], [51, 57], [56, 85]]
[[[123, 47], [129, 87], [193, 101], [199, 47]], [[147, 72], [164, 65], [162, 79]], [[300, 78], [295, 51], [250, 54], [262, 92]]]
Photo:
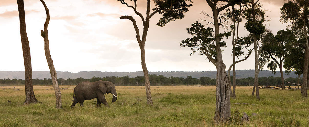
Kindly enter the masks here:
[[193, 3], [191, 0], [154, 0], [154, 2], [156, 7], [152, 10], [163, 14], [157, 23], [161, 27], [176, 19], [184, 18], [184, 13], [188, 12], [188, 7], [191, 7]]

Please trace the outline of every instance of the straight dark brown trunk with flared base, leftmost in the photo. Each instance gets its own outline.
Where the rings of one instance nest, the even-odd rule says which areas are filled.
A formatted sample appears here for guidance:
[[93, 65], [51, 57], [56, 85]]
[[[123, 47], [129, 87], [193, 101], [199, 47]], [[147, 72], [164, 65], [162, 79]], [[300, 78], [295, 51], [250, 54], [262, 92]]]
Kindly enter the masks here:
[[26, 32], [26, 21], [25, 21], [25, 9], [23, 0], [17, 0], [18, 13], [19, 13], [19, 27], [20, 27], [20, 38], [23, 48], [23, 62], [25, 65], [25, 92], [26, 99], [23, 104], [37, 103], [39, 102], [34, 95], [32, 87], [32, 67], [31, 67], [31, 56], [29, 40]]

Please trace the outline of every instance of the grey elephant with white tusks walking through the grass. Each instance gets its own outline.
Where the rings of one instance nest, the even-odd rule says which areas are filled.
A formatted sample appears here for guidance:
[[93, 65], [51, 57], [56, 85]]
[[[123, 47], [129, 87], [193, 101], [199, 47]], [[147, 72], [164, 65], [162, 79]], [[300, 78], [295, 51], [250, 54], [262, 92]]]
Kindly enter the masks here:
[[[112, 82], [108, 81], [96, 81], [96, 82], [82, 82], [79, 83], [73, 90], [73, 103], [71, 108], [79, 102], [80, 106], [84, 106], [84, 100], [91, 100], [97, 98], [97, 105], [100, 106], [103, 103], [105, 106], [108, 106], [104, 94], [111, 93], [113, 95], [112, 102], [117, 100], [117, 93], [115, 86]], [[75, 97], [74, 97], [75, 95]]]

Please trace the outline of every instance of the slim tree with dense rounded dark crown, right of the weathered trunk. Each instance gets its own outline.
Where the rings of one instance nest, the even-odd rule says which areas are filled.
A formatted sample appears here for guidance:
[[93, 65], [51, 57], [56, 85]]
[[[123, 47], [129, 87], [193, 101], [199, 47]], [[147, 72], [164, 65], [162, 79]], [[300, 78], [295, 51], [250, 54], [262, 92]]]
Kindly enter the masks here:
[[254, 2], [254, 0], [251, 1], [251, 5], [248, 5], [247, 10], [244, 12], [244, 18], [247, 19], [245, 28], [252, 34], [254, 44], [255, 73], [252, 95], [254, 95], [254, 91], [256, 90], [256, 98], [260, 100], [258, 75], [261, 67], [259, 56], [262, 46], [258, 43], [258, 37], [265, 32], [265, 26], [262, 24], [265, 21], [265, 12], [262, 10], [258, 2], [259, 0], [256, 2]]

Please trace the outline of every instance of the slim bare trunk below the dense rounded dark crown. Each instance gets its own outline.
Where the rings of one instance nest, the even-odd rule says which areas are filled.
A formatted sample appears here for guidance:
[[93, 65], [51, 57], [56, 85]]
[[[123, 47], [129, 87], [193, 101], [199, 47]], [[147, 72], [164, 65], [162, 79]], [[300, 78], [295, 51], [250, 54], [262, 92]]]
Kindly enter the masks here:
[[[258, 75], [259, 75], [259, 56], [258, 56], [258, 49], [257, 49], [257, 39], [256, 35], [253, 33], [253, 43], [254, 43], [254, 55], [255, 55], [255, 73], [254, 73], [254, 87], [256, 89], [256, 99], [260, 100], [260, 92], [259, 92], [259, 81], [258, 81]], [[254, 95], [254, 87], [252, 91], [252, 95]]]

